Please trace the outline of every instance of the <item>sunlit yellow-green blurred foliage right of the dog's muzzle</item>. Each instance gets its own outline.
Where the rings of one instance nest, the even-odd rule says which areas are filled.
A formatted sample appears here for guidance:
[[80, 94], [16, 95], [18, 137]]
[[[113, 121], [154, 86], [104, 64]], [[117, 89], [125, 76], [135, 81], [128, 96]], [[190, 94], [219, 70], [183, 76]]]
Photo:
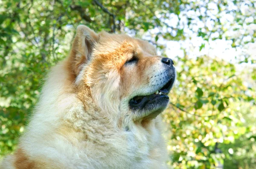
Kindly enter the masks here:
[[164, 113], [175, 166], [208, 169], [224, 160], [227, 169], [255, 168], [256, 94], [245, 72], [206, 56], [177, 62], [179, 84]]

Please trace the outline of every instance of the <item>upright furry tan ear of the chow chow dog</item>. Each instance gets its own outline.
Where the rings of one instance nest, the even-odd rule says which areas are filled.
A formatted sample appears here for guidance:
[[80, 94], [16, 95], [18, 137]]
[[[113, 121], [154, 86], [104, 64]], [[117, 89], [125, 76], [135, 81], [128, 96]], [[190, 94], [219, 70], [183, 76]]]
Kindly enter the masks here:
[[69, 64], [75, 76], [78, 76], [82, 65], [90, 60], [93, 45], [98, 39], [98, 34], [85, 25], [76, 28], [76, 36], [73, 40], [70, 52]]

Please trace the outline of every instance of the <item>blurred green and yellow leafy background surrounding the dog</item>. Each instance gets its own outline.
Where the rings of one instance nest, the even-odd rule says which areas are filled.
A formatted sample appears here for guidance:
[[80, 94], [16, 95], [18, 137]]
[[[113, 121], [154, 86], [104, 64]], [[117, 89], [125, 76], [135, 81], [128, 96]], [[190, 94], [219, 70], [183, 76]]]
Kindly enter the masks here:
[[0, 0], [0, 157], [79, 24], [148, 40], [175, 61], [169, 166], [256, 168], [255, 0]]

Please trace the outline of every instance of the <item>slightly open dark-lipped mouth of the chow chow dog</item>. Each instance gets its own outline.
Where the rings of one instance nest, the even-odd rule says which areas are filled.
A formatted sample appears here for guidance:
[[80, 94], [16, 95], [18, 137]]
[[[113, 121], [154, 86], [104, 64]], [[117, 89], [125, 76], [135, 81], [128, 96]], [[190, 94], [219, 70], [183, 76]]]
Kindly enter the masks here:
[[171, 90], [173, 83], [174, 79], [171, 78], [154, 94], [148, 96], [135, 96], [129, 101], [130, 107], [133, 109], [143, 109], [147, 107], [147, 105], [150, 109], [166, 107], [169, 102], [169, 96], [167, 96], [167, 94]]

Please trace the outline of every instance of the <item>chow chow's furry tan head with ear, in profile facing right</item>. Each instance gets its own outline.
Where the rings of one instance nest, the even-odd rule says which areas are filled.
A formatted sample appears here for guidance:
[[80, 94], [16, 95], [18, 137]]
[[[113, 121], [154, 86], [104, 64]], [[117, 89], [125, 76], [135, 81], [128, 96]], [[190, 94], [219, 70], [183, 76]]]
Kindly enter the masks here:
[[176, 71], [148, 42], [80, 25], [70, 56], [76, 85], [119, 123], [154, 119], [169, 103]]

